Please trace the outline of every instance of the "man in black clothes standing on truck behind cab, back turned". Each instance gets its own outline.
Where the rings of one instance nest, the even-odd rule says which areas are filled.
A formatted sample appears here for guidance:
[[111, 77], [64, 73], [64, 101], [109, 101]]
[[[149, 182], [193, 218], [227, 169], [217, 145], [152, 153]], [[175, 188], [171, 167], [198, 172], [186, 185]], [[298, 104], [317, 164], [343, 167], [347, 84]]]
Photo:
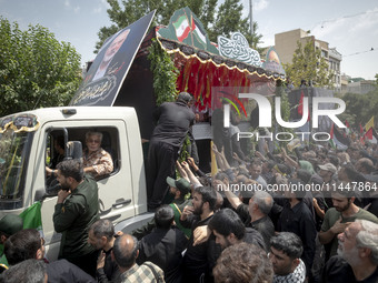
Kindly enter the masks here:
[[175, 178], [175, 164], [182, 143], [195, 121], [190, 107], [192, 95], [179, 93], [176, 102], [165, 102], [153, 113], [157, 123], [148, 153], [147, 196], [148, 209], [155, 211], [167, 192], [167, 176]]

